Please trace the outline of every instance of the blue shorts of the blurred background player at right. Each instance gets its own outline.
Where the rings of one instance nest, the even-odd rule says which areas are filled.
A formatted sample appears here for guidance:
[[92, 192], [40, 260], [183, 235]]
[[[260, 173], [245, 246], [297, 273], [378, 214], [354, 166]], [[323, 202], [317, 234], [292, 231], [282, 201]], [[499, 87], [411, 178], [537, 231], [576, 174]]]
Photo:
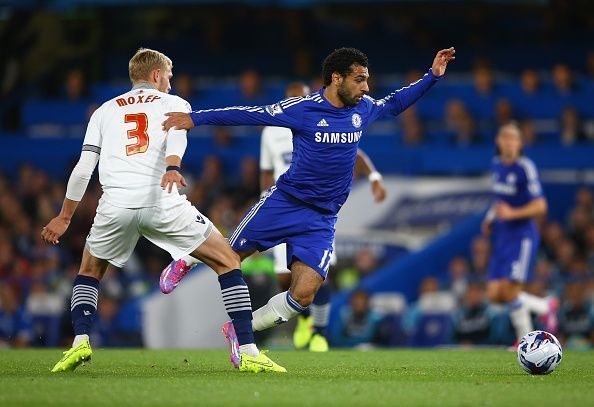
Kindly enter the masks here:
[[518, 283], [530, 281], [538, 244], [537, 233], [498, 236], [489, 262], [489, 280], [507, 279]]

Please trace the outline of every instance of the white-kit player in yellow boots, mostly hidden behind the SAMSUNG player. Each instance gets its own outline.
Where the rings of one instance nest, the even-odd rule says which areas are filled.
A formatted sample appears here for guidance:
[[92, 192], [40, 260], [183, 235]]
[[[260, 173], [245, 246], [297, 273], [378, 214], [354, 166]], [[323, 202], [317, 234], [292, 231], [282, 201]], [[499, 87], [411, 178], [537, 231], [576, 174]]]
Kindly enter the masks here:
[[[310, 93], [309, 87], [301, 82], [288, 85], [286, 97], [305, 96]], [[325, 121], [318, 126], [327, 126]], [[293, 156], [293, 134], [285, 127], [267, 126], [262, 130], [260, 141], [260, 189], [262, 194], [272, 187], [278, 177], [285, 173], [291, 165]], [[355, 166], [369, 177], [375, 202], [382, 202], [386, 197], [386, 189], [382, 176], [361, 150], [357, 151]], [[330, 265], [336, 265], [336, 252], [332, 252]], [[282, 291], [287, 291], [291, 285], [291, 271], [287, 267], [287, 246], [280, 244], [273, 248], [274, 269], [277, 281]], [[326, 328], [330, 317], [330, 286], [328, 280], [324, 282], [313, 303], [297, 319], [297, 326], [293, 333], [293, 344], [297, 349], [309, 346], [313, 352], [328, 350]]]

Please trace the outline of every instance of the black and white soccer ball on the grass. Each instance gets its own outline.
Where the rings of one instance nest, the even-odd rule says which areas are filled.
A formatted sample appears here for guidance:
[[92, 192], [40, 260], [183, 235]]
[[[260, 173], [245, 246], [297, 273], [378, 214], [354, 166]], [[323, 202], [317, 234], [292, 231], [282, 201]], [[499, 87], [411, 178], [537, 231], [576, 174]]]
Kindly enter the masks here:
[[561, 363], [563, 351], [555, 335], [532, 331], [518, 344], [518, 363], [530, 374], [549, 374]]

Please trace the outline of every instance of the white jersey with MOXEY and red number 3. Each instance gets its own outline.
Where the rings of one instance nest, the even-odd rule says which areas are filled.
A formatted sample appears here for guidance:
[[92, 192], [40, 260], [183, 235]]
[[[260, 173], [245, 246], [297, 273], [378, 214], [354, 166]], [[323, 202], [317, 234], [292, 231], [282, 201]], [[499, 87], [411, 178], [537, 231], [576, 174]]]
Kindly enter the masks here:
[[162, 128], [167, 112], [190, 112], [188, 102], [150, 86], [105, 102], [93, 113], [83, 151], [99, 154], [103, 199], [120, 208], [145, 208], [170, 199], [161, 189], [168, 137], [186, 137], [185, 130]]

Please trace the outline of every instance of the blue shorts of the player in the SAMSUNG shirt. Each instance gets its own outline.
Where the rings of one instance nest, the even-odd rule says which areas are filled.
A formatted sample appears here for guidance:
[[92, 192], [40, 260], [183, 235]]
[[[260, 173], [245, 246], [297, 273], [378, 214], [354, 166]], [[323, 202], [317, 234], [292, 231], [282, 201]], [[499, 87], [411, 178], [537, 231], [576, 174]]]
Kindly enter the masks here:
[[337, 218], [273, 186], [243, 217], [229, 243], [235, 251], [265, 251], [286, 243], [289, 269], [298, 259], [325, 279]]

